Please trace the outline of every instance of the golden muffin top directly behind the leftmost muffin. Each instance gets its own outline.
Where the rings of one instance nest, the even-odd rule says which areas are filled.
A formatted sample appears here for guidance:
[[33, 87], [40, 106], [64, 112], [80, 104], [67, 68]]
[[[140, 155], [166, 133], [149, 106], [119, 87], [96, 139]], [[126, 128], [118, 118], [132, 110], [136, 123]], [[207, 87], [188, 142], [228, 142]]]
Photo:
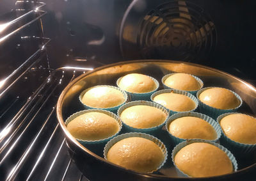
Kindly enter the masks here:
[[97, 86], [84, 93], [82, 102], [95, 108], [115, 107], [124, 103], [125, 97], [120, 90], [108, 86]]

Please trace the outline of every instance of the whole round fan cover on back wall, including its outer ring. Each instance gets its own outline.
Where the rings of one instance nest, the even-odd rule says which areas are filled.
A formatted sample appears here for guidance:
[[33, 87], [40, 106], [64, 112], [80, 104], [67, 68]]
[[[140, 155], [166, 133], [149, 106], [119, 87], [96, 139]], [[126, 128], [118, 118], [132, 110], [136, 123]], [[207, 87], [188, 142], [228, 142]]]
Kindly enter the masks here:
[[216, 29], [202, 8], [189, 1], [169, 1], [155, 7], [134, 3], [125, 13], [120, 29], [125, 58], [195, 61], [211, 54]]

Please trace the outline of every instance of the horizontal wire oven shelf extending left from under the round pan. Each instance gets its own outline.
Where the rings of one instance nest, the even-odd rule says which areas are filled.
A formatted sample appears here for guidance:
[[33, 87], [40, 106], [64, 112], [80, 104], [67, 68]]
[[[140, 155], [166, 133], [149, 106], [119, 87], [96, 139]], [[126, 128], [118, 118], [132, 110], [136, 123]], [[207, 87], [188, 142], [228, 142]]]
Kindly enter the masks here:
[[[5, 180], [87, 180], [72, 162], [56, 120], [56, 103], [70, 81], [91, 68], [63, 67], [51, 72], [26, 101], [17, 97], [0, 119], [0, 177]], [[21, 107], [13, 113], [16, 107]], [[3, 174], [3, 175], [2, 175]]]

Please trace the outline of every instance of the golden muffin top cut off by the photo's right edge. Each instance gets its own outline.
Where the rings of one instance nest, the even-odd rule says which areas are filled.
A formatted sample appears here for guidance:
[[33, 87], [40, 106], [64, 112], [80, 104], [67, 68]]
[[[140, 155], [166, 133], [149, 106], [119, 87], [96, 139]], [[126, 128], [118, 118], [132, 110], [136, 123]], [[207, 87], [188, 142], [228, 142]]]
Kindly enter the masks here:
[[229, 114], [220, 120], [225, 135], [238, 143], [256, 144], [256, 119], [246, 114]]

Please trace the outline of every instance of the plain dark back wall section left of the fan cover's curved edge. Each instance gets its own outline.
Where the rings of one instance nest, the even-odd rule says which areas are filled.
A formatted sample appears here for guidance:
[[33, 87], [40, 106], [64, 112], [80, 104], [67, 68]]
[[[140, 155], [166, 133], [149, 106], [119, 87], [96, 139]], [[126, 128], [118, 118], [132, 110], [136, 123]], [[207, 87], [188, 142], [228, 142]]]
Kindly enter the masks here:
[[52, 39], [49, 57], [54, 67], [88, 65], [86, 60], [122, 61], [118, 29], [131, 1], [44, 2], [47, 16], [43, 23], [45, 35]]

